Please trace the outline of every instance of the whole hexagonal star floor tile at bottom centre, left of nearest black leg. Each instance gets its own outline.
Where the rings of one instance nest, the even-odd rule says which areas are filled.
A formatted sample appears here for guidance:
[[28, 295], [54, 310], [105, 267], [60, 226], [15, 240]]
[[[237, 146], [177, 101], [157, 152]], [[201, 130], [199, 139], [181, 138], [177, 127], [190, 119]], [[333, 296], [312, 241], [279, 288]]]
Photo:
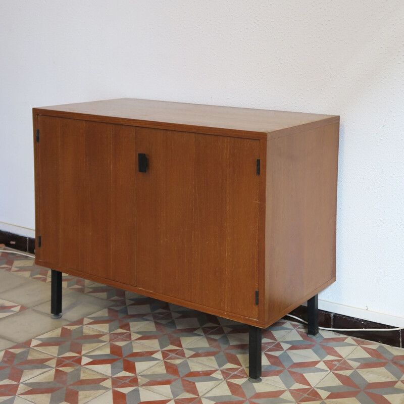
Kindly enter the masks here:
[[188, 402], [223, 380], [220, 370], [175, 355], [138, 374], [139, 386]]

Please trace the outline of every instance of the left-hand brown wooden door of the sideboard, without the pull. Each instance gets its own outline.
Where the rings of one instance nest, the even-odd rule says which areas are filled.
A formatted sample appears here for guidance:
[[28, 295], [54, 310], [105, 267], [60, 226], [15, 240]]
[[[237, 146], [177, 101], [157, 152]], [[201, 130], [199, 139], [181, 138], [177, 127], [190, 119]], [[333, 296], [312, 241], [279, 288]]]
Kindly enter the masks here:
[[134, 128], [37, 119], [37, 262], [135, 285]]

